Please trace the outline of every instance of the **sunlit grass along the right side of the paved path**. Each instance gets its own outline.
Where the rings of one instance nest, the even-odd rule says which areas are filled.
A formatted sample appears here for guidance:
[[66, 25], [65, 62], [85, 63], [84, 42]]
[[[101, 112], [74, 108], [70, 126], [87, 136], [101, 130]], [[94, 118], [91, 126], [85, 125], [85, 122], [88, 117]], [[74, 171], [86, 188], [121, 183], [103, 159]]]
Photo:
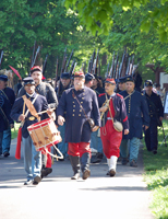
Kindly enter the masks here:
[[[164, 120], [165, 136], [168, 134], [168, 120]], [[168, 147], [165, 143], [163, 130], [158, 128], [158, 153], [153, 154], [144, 147], [143, 161], [148, 189], [153, 191], [151, 204], [155, 218], [168, 219]], [[143, 142], [145, 145], [145, 142]], [[168, 145], [168, 137], [167, 137]]]

